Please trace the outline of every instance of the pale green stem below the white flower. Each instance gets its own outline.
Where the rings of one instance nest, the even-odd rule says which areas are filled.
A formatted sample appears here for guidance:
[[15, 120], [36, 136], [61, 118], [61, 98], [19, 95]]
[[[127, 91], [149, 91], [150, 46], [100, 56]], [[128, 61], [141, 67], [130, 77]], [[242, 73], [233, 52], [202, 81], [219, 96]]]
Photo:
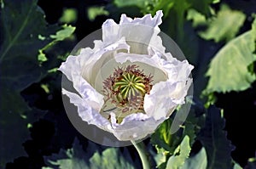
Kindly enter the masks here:
[[150, 161], [149, 154], [148, 154], [145, 144], [143, 144], [143, 142], [136, 143], [134, 140], [131, 140], [131, 143], [137, 149], [137, 152], [138, 152], [138, 154], [141, 158], [141, 161], [143, 163], [143, 169], [153, 168], [153, 165]]

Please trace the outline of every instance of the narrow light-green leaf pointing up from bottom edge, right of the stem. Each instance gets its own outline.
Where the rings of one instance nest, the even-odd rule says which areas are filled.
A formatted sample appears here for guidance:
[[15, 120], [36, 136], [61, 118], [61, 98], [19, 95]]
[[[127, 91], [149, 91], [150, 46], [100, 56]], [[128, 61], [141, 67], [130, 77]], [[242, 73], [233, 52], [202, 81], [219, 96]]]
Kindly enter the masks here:
[[176, 155], [172, 155], [167, 161], [166, 169], [178, 169], [183, 166], [190, 153], [189, 136], [183, 138], [182, 143], [175, 149]]

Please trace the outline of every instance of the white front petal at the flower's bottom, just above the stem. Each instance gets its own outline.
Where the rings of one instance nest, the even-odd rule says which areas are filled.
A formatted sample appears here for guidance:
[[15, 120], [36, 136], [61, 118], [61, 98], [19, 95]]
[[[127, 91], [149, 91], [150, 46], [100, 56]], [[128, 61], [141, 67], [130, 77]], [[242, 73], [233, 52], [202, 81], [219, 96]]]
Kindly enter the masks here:
[[113, 119], [113, 135], [121, 141], [145, 138], [148, 134], [153, 133], [161, 122], [165, 121], [165, 118], [155, 121], [154, 118], [143, 113], [128, 115], [121, 124], [115, 122], [113, 114], [111, 119]]

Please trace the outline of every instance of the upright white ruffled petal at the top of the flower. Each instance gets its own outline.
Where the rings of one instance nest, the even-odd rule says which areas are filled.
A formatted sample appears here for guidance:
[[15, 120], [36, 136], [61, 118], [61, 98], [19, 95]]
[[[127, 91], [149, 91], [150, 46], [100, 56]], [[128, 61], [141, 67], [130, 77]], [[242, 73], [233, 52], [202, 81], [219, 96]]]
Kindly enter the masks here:
[[125, 37], [131, 46], [131, 53], [148, 54], [148, 44], [160, 31], [158, 25], [162, 22], [162, 16], [162, 11], [157, 11], [154, 18], [151, 14], [146, 14], [143, 18], [132, 20], [122, 14], [119, 25], [113, 20], [106, 20], [102, 25], [103, 42], [112, 43]]

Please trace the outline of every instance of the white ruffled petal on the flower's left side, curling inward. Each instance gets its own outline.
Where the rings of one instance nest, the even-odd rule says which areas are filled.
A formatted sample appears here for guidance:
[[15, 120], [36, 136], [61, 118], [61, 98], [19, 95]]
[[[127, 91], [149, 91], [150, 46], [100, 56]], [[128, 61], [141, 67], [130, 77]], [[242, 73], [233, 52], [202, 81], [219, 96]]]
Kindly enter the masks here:
[[[66, 62], [61, 64], [59, 70], [67, 76], [69, 81], [73, 82], [73, 87], [79, 92], [82, 98], [88, 99], [88, 102], [90, 102], [90, 105], [95, 110], [101, 110], [104, 104], [104, 96], [98, 93], [92, 85], [95, 81], [96, 74], [104, 64], [103, 62], [97, 63], [97, 61], [102, 59], [104, 62], [107, 62], [108, 59], [113, 58], [113, 54], [109, 55], [107, 53], [115, 52], [119, 49], [129, 51], [130, 47], [126, 44], [124, 38], [105, 48], [99, 48], [103, 45], [100, 41], [96, 41], [95, 44], [96, 46], [93, 49], [82, 49], [78, 56], [71, 55], [67, 57]], [[107, 54], [105, 58], [104, 54]]]

